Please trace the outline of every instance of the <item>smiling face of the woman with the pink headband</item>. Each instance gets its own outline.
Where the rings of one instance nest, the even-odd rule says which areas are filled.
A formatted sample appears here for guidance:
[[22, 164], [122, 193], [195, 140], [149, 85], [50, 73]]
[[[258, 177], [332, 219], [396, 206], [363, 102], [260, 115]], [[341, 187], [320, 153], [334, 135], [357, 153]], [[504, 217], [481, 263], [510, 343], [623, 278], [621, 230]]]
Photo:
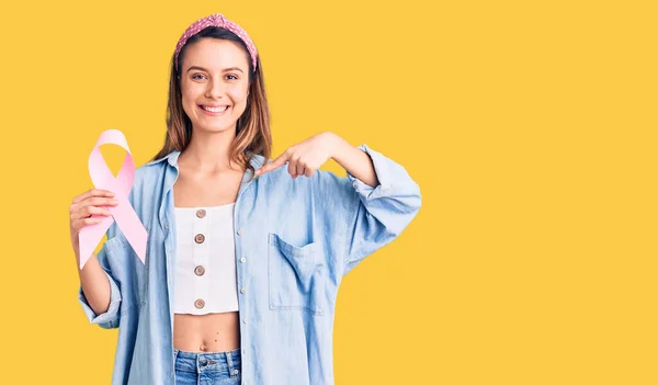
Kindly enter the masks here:
[[235, 132], [249, 94], [247, 53], [237, 43], [206, 37], [185, 48], [181, 69], [183, 110], [193, 131]]

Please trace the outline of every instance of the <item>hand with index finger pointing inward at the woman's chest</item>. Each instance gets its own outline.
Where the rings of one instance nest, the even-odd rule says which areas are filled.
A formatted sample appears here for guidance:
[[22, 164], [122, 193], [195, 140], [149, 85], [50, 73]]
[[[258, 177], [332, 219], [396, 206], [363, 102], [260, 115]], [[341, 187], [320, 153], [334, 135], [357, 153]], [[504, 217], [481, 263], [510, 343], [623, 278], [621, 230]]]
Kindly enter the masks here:
[[309, 178], [333, 156], [333, 150], [338, 145], [337, 139], [339, 137], [331, 132], [311, 136], [299, 144], [288, 147], [279, 158], [258, 169], [256, 174], [260, 177], [283, 166], [287, 161], [288, 173], [293, 179], [299, 175]]

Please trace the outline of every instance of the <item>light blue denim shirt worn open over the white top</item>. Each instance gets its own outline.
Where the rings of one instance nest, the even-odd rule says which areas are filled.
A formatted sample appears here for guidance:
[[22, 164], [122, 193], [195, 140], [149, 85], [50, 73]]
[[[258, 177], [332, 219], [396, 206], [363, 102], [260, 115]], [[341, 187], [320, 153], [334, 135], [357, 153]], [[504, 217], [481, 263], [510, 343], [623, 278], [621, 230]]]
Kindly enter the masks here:
[[[333, 312], [342, 278], [393, 241], [420, 208], [420, 189], [400, 165], [361, 145], [376, 188], [285, 166], [242, 178], [234, 212], [242, 384], [333, 384]], [[143, 264], [114, 223], [98, 253], [111, 285], [106, 313], [79, 299], [91, 324], [118, 328], [112, 384], [173, 385], [178, 157], [137, 168], [128, 200], [148, 231]], [[253, 155], [258, 170], [263, 157]], [[241, 290], [245, 290], [243, 292]]]

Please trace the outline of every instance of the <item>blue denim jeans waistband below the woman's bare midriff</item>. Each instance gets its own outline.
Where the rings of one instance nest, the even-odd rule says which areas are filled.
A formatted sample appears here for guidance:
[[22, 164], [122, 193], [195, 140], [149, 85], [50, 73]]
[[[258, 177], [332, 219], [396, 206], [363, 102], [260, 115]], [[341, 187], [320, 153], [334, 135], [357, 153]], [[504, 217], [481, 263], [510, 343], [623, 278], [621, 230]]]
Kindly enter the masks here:
[[240, 349], [195, 353], [173, 350], [177, 385], [240, 385]]

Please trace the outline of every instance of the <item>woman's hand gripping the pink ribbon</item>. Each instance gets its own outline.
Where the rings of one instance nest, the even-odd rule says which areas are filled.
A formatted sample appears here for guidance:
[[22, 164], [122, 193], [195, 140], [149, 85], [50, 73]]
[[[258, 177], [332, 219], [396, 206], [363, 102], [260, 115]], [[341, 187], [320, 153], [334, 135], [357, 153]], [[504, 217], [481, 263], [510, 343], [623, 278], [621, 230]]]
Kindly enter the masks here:
[[80, 252], [78, 235], [84, 226], [95, 225], [112, 215], [107, 206], [116, 206], [118, 201], [107, 190], [91, 189], [73, 197], [70, 205], [71, 245], [76, 256]]

